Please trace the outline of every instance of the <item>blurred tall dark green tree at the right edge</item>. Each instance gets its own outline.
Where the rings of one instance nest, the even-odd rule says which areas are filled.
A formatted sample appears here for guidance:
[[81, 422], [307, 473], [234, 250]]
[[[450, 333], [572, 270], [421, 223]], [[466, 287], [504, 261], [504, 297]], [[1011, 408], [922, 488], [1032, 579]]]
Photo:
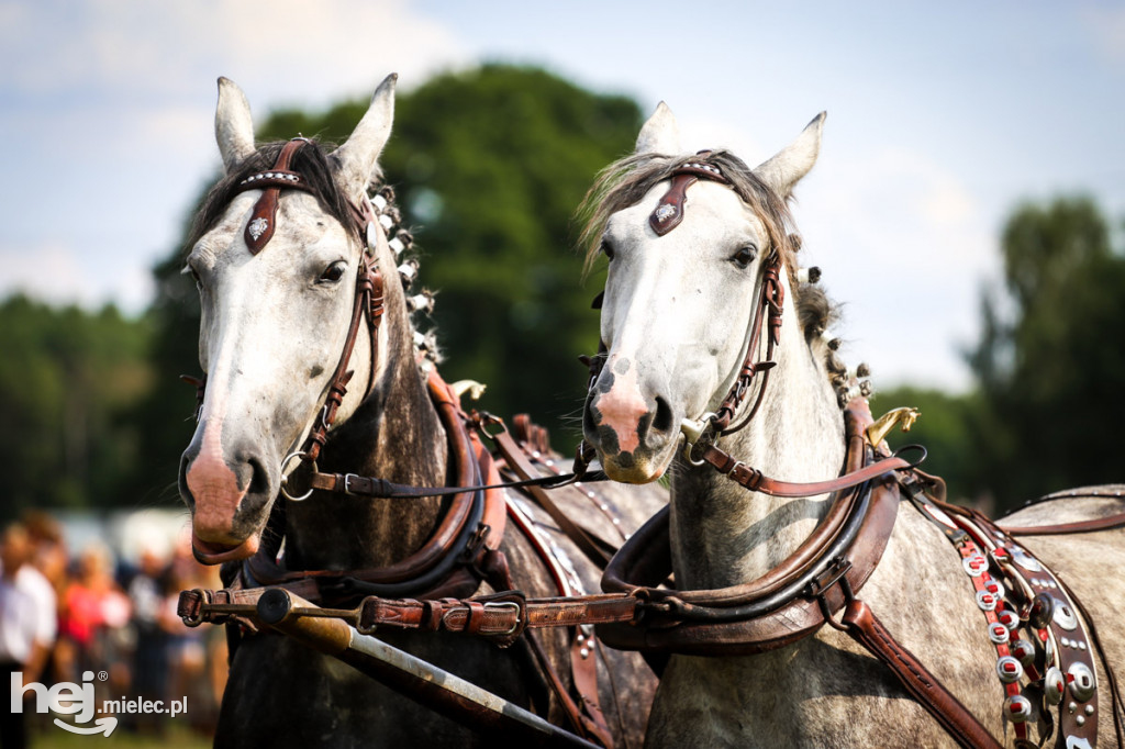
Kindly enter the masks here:
[[1005, 226], [1005, 301], [982, 300], [978, 482], [1001, 507], [1122, 481], [1125, 258], [1086, 198], [1025, 205]]

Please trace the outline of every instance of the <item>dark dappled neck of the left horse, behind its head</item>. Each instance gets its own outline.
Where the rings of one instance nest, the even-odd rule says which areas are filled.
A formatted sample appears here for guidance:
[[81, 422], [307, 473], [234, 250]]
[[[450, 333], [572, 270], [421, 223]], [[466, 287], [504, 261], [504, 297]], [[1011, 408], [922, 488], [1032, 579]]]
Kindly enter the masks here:
[[[326, 472], [376, 476], [410, 486], [444, 486], [446, 430], [418, 373], [414, 328], [393, 255], [379, 253], [385, 313], [379, 358], [384, 362], [366, 400], [331, 434], [320, 459]], [[369, 361], [369, 360], [367, 360]], [[364, 378], [366, 379], [366, 378]], [[359, 382], [360, 378], [356, 378]], [[416, 551], [440, 520], [442, 500], [367, 499], [321, 495], [289, 503], [289, 566], [306, 569], [384, 567]]]

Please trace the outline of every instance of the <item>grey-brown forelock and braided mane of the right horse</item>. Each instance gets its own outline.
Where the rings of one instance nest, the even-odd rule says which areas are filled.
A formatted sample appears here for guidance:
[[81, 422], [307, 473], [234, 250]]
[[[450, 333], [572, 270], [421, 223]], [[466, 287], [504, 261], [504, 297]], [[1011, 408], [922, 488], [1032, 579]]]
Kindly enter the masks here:
[[[586, 192], [576, 211], [580, 225], [578, 246], [585, 253], [583, 273], [587, 274], [597, 260], [602, 235], [610, 216], [636, 205], [656, 184], [672, 179], [673, 173], [687, 163], [709, 163], [718, 166], [730, 188], [755, 213], [766, 229], [770, 246], [781, 255], [789, 273], [794, 306], [806, 341], [824, 348], [825, 367], [837, 392], [846, 391], [847, 367], [836, 354], [839, 340], [824, 340], [825, 332], [839, 319], [839, 307], [816, 282], [798, 282], [796, 252], [801, 237], [795, 233], [793, 215], [785, 200], [763, 182], [746, 162], [720, 150], [706, 154], [668, 156], [657, 153], [631, 154], [603, 169]], [[870, 387], [870, 386], [868, 386]], [[846, 398], [840, 395], [842, 407]]]

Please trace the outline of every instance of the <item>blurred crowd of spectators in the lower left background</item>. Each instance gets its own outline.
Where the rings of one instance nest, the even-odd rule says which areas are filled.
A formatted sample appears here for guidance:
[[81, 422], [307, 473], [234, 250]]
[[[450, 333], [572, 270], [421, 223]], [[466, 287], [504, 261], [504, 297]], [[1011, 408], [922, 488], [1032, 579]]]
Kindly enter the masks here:
[[[0, 534], [0, 678], [24, 684], [82, 684], [93, 674], [104, 700], [188, 698], [186, 715], [210, 734], [226, 679], [222, 628], [188, 628], [176, 615], [180, 590], [219, 588], [217, 568], [191, 556], [190, 541], [171, 549], [153, 539], [140, 558], [116, 559], [102, 544], [76, 553], [61, 525], [33, 513]], [[89, 679], [87, 679], [89, 682]], [[28, 746], [28, 733], [50, 724], [35, 712], [34, 693], [22, 713], [0, 711], [0, 747]], [[120, 729], [159, 736], [161, 714], [118, 715]]]

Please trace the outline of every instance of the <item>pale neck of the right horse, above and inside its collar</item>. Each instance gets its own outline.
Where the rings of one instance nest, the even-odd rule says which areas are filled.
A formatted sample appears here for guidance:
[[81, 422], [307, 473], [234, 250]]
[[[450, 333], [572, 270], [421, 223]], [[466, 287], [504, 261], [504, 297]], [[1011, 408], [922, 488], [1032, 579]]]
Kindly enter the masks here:
[[[788, 285], [788, 279], [782, 280]], [[782, 333], [757, 415], [719, 446], [766, 476], [814, 481], [844, 461], [844, 423], [825, 369], [810, 352], [786, 294]], [[753, 392], [753, 390], [752, 390]], [[753, 396], [752, 396], [753, 397]], [[789, 557], [828, 511], [825, 496], [752, 493], [711, 466], [682, 460], [672, 479], [673, 560], [680, 587], [717, 588], [764, 575]]]

